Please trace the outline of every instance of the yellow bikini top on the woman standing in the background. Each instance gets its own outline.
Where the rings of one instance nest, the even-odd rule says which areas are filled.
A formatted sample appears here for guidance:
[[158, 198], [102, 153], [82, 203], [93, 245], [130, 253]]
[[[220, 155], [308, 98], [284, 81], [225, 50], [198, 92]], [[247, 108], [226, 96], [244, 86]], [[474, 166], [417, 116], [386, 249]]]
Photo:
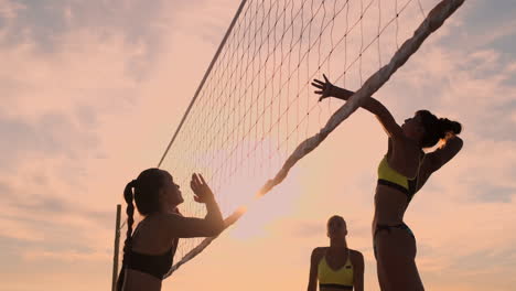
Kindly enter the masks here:
[[353, 263], [347, 250], [347, 260], [338, 270], [333, 270], [326, 262], [326, 254], [319, 261], [319, 290], [353, 290]]

